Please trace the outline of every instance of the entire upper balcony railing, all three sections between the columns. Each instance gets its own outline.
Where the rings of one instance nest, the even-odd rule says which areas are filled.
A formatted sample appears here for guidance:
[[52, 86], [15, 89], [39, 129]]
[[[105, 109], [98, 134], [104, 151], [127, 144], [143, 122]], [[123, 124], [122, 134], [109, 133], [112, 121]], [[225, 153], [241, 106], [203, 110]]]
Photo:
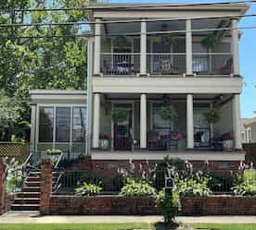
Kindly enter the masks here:
[[[193, 73], [197, 75], [230, 75], [233, 55], [229, 53], [194, 53]], [[104, 75], [136, 75], [140, 73], [140, 53], [101, 53]], [[147, 53], [147, 73], [150, 75], [186, 74], [185, 53]]]

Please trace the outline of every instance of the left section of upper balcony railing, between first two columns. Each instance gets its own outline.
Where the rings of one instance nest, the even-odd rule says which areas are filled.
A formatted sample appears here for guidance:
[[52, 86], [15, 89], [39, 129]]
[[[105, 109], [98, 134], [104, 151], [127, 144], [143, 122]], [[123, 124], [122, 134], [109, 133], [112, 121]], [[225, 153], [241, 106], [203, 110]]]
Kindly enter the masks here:
[[134, 75], [139, 73], [139, 53], [101, 53], [101, 73], [105, 75]]

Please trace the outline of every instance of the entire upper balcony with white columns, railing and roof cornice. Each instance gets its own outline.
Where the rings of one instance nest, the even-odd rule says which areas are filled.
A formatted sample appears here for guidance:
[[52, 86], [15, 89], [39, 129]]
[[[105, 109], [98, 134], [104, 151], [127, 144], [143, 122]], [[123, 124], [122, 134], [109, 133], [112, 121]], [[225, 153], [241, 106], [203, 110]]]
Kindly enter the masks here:
[[[131, 16], [121, 9], [94, 9], [94, 75], [239, 76], [239, 18], [227, 16], [243, 14], [246, 6], [236, 7], [234, 12], [231, 6], [220, 7], [220, 12], [215, 8], [207, 8], [205, 12], [186, 9], [180, 11], [181, 17], [174, 9], [166, 9], [166, 12], [139, 9]], [[146, 12], [148, 18], [142, 18]], [[176, 19], [164, 18], [168, 12]]]

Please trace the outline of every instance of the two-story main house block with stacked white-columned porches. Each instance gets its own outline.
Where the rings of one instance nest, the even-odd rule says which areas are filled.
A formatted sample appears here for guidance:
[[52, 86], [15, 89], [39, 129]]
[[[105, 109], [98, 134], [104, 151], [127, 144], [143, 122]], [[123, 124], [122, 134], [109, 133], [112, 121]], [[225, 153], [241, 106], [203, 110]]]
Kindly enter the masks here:
[[[84, 141], [93, 165], [170, 156], [230, 169], [244, 161], [237, 23], [248, 5], [87, 8], [92, 24]], [[167, 106], [175, 120], [163, 117]], [[210, 124], [205, 114], [214, 108], [220, 119]]]

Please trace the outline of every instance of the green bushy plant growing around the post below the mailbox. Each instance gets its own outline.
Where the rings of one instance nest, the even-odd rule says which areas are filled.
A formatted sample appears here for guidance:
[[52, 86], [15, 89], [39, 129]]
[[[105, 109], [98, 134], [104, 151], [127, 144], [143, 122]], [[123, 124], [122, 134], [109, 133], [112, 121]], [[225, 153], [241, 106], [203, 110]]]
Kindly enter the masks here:
[[162, 189], [157, 196], [156, 204], [163, 215], [164, 222], [172, 223], [180, 206], [177, 193], [173, 192], [172, 194], [168, 194], [165, 189]]

